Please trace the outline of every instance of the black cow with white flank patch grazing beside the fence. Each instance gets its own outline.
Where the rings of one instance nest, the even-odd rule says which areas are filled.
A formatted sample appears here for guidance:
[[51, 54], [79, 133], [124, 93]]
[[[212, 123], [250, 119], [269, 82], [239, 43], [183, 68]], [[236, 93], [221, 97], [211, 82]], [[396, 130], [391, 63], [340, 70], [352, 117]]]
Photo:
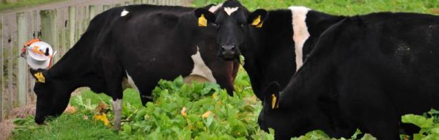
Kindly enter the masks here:
[[62, 114], [71, 92], [81, 86], [112, 97], [116, 129], [126, 83], [138, 89], [143, 104], [152, 101], [158, 80], [178, 75], [216, 82], [231, 95], [239, 64], [217, 58], [217, 32], [197, 27], [193, 10], [130, 5], [97, 15], [54, 67], [30, 70], [37, 79], [36, 123]]

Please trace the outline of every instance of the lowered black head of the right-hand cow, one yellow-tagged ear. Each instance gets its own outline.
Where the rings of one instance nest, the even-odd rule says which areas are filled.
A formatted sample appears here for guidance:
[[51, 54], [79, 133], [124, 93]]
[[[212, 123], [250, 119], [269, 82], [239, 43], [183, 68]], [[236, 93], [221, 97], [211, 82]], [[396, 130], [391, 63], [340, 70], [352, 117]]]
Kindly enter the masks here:
[[300, 136], [309, 131], [307, 125], [309, 119], [298, 110], [292, 110], [288, 103], [282, 104], [279, 97], [280, 86], [273, 82], [265, 89], [263, 109], [259, 114], [258, 124], [262, 130], [268, 132], [269, 128], [274, 129], [276, 139], [289, 139], [293, 136]]

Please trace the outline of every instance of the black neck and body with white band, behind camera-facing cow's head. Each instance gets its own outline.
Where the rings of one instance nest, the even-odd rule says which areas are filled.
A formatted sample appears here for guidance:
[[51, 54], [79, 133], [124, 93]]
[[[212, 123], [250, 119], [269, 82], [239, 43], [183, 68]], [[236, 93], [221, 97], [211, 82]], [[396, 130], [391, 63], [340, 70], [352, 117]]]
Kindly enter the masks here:
[[[298, 18], [299, 20], [295, 21], [296, 27], [293, 27], [293, 13], [306, 14], [298, 15], [302, 19]], [[248, 71], [252, 88], [258, 97], [261, 97], [259, 93], [272, 81], [279, 82], [281, 89], [285, 88], [296, 69], [311, 53], [318, 36], [331, 25], [344, 19], [343, 16], [332, 16], [313, 10], [305, 11], [305, 9], [294, 11], [292, 8], [273, 10], [269, 15], [262, 28], [250, 30], [248, 45], [243, 50], [246, 58], [244, 69]], [[302, 24], [304, 21], [306, 25]], [[300, 31], [294, 32], [294, 28]], [[294, 36], [295, 33], [302, 34]], [[302, 42], [296, 43], [294, 40]], [[302, 49], [296, 51], [296, 48]], [[296, 55], [298, 52], [300, 55]]]

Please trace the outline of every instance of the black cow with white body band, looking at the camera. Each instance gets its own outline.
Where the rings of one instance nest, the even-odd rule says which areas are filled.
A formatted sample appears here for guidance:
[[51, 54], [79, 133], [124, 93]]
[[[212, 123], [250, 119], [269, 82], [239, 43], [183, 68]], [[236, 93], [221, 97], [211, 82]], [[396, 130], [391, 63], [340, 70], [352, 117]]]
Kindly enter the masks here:
[[244, 69], [259, 100], [263, 100], [262, 90], [270, 82], [278, 82], [283, 89], [318, 36], [344, 19], [304, 7], [248, 12], [236, 0], [224, 2], [215, 13], [195, 10], [195, 16], [202, 14], [217, 27], [217, 43], [222, 47], [219, 55], [225, 60], [236, 60], [239, 54], [246, 58]]

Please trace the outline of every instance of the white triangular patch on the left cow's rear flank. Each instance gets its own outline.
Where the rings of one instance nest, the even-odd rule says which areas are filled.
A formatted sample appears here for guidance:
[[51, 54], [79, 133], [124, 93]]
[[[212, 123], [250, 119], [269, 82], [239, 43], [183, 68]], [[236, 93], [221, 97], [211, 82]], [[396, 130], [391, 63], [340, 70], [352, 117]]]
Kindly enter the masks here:
[[191, 56], [193, 60], [193, 70], [190, 75], [199, 75], [203, 78], [209, 80], [209, 82], [216, 83], [217, 80], [213, 77], [211, 69], [207, 67], [204, 63], [203, 58], [201, 58], [200, 48], [197, 46], [197, 53]]

